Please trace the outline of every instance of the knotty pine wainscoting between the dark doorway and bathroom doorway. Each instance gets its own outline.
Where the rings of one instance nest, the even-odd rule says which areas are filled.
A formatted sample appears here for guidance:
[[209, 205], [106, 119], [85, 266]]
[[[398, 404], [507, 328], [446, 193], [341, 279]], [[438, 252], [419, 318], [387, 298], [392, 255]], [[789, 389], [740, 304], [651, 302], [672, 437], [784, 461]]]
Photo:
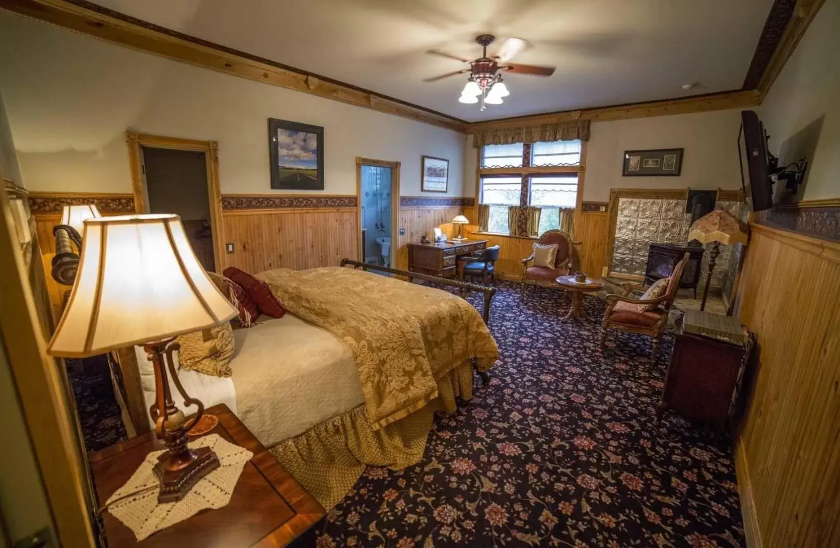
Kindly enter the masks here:
[[339, 266], [358, 254], [356, 208], [223, 210], [224, 264], [256, 273]]

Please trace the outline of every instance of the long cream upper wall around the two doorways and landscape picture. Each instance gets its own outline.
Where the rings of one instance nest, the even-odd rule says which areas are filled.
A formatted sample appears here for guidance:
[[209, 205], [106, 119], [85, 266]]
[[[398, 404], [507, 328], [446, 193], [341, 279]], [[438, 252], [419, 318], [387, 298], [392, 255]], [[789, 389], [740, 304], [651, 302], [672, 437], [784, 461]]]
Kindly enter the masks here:
[[324, 127], [325, 193], [354, 194], [355, 158], [364, 156], [402, 162], [402, 195], [440, 197], [420, 192], [420, 156], [433, 155], [449, 159], [447, 194], [464, 195], [465, 136], [449, 129], [165, 60], [6, 12], [0, 12], [0, 50], [0, 89], [31, 191], [131, 192], [123, 133], [134, 129], [218, 140], [222, 192], [272, 192], [268, 119], [277, 118]]

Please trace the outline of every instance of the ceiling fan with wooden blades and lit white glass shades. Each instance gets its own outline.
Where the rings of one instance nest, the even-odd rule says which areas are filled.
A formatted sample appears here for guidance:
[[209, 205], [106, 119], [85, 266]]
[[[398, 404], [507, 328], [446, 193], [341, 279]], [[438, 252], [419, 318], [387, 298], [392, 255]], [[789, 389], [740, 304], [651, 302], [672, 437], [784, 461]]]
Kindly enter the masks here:
[[496, 41], [495, 36], [492, 34], [479, 34], [475, 37], [475, 41], [483, 48], [483, 54], [473, 61], [461, 59], [455, 55], [449, 55], [444, 51], [427, 51], [426, 53], [432, 55], [440, 55], [448, 59], [470, 63], [470, 68], [434, 76], [433, 78], [426, 78], [423, 82], [437, 82], [449, 76], [469, 72], [470, 78], [467, 80], [464, 91], [461, 92], [461, 97], [458, 100], [460, 103], [474, 104], [479, 102], [480, 97], [481, 110], [484, 110], [488, 104], [503, 103], [502, 98], [511, 94], [507, 91], [507, 86], [501, 79], [501, 71], [512, 72], [513, 74], [528, 74], [531, 76], [551, 76], [554, 74], [554, 66], [523, 65], [522, 63], [510, 62], [515, 55], [524, 50], [528, 45], [528, 42], [525, 40], [508, 38], [501, 45], [499, 54], [492, 57], [487, 56], [487, 46]]

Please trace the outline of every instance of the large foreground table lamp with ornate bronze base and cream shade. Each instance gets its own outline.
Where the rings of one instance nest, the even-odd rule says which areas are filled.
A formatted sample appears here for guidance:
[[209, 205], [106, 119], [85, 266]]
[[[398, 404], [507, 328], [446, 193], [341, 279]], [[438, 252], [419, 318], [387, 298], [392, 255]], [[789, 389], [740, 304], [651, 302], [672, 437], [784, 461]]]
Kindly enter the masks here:
[[[47, 353], [85, 357], [143, 345], [155, 367], [152, 418], [167, 449], [155, 465], [158, 501], [181, 500], [219, 461], [208, 447], [186, 445], [204, 406], [178, 380], [173, 340], [233, 318], [236, 308], [207, 277], [177, 215], [87, 219], [83, 234], [79, 275]], [[189, 421], [172, 401], [167, 367], [185, 403], [197, 406]]]

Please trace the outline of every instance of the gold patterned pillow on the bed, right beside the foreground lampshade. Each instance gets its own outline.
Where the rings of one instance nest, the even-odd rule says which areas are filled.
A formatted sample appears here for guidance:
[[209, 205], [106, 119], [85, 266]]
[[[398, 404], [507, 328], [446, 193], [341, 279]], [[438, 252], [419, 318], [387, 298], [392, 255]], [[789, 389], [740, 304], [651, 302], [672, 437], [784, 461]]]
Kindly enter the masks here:
[[178, 361], [188, 371], [198, 371], [213, 377], [230, 377], [230, 358], [234, 356], [234, 329], [230, 322], [208, 329], [178, 335], [181, 345]]

